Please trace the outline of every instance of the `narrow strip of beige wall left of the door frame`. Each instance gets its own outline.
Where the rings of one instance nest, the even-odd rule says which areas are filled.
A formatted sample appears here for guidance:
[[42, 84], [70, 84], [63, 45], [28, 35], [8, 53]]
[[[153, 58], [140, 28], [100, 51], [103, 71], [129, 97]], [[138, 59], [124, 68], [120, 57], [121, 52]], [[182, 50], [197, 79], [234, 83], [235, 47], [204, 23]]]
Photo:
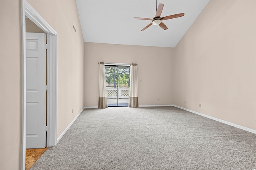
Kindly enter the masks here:
[[20, 167], [20, 0], [0, 0], [0, 169]]

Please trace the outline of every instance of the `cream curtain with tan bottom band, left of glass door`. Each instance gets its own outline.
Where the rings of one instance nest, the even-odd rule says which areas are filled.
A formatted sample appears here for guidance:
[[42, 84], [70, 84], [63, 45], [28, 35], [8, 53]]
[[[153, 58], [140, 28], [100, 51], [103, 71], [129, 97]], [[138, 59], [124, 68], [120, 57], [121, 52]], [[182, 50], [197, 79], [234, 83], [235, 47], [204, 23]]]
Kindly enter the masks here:
[[99, 101], [98, 108], [104, 109], [108, 107], [107, 93], [106, 93], [106, 78], [105, 78], [105, 66], [103, 62], [100, 62], [100, 81], [99, 81]]

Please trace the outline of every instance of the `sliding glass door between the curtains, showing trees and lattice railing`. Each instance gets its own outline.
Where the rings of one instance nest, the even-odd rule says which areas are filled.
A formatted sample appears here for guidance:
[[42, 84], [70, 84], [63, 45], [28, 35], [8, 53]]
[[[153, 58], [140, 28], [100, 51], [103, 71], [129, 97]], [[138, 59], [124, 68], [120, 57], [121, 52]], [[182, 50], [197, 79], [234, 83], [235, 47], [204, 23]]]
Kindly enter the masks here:
[[108, 107], [128, 106], [130, 66], [105, 65]]

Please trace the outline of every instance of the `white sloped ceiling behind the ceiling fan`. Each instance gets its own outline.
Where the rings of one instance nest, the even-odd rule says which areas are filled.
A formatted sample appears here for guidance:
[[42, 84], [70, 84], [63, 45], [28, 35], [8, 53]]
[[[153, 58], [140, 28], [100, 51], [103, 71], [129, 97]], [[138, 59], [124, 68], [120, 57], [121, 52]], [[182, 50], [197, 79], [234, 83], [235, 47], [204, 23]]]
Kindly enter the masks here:
[[158, 0], [164, 4], [161, 17], [185, 13], [185, 16], [164, 20], [168, 27], [151, 25], [156, 0], [76, 0], [84, 42], [154, 47], [175, 47], [210, 0]]

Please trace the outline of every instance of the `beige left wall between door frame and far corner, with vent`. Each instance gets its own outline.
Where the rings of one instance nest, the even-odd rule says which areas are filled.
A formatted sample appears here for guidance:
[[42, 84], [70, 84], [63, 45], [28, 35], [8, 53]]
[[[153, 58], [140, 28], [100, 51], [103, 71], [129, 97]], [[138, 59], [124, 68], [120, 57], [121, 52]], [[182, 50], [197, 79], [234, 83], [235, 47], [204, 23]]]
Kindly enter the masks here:
[[58, 137], [84, 107], [84, 39], [76, 1], [28, 2], [58, 33]]

